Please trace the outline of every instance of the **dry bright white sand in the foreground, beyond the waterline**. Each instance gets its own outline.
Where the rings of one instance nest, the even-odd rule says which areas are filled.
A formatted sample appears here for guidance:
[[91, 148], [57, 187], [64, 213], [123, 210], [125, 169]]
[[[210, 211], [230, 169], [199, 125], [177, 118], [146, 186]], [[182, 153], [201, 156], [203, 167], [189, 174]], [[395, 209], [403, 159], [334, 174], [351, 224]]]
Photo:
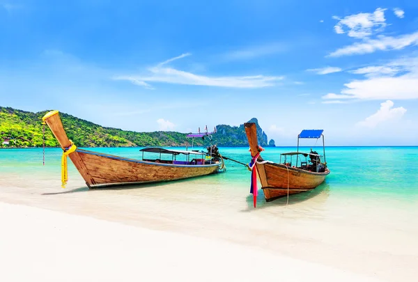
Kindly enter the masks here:
[[0, 281], [378, 281], [256, 247], [0, 203]]

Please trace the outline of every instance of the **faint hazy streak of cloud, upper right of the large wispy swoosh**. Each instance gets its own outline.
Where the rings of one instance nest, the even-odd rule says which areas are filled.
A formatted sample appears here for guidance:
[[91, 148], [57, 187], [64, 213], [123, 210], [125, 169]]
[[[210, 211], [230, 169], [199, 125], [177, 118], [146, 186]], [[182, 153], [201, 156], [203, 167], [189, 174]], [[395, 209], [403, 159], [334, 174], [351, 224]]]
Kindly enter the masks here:
[[222, 54], [222, 60], [225, 61], [238, 61], [247, 60], [251, 58], [258, 58], [261, 56], [268, 56], [272, 54], [278, 54], [286, 52], [288, 47], [281, 42], [274, 42], [265, 45], [256, 45], [251, 47], [245, 47], [243, 49], [237, 49]]

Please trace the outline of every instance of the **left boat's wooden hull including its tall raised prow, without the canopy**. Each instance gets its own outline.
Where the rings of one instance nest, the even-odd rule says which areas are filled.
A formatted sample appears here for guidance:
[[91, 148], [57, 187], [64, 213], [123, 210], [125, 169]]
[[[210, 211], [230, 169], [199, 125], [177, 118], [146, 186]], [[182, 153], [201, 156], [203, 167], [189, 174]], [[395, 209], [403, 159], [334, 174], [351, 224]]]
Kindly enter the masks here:
[[[224, 171], [223, 162], [213, 164], [166, 164], [164, 162], [148, 162], [81, 150], [75, 148], [75, 145], [68, 139], [58, 111], [50, 111], [42, 120], [49, 126], [63, 151], [68, 152], [68, 157], [70, 157], [89, 188], [165, 182]], [[75, 148], [75, 150], [71, 150], [71, 148]]]

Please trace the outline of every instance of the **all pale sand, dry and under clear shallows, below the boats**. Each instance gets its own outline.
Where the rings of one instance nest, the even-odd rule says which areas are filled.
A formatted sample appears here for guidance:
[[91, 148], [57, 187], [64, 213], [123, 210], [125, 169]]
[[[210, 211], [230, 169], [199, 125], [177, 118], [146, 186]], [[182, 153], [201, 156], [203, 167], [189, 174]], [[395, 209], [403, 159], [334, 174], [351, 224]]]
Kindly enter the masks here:
[[0, 174], [0, 281], [389, 281], [418, 277], [418, 209], [315, 191], [252, 207], [217, 177], [121, 189]]

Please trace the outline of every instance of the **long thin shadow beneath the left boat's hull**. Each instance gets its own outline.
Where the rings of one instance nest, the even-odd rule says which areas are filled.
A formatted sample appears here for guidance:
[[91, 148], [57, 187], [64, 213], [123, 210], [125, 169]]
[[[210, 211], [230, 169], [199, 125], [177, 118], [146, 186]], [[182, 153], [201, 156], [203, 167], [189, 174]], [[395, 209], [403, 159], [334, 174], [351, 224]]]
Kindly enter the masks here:
[[[214, 177], [217, 175], [217, 173], [205, 175], [205, 178]], [[159, 186], [165, 186], [165, 185], [171, 185], [175, 183], [182, 183], [182, 182], [190, 182], [195, 181], [196, 179], [201, 178], [201, 176], [196, 176], [195, 178], [186, 178], [186, 179], [179, 179], [179, 180], [170, 180], [165, 182], [148, 182], [148, 183], [142, 183], [142, 184], [131, 184], [127, 183], [124, 185], [115, 185], [115, 186], [109, 186], [109, 187], [94, 187], [89, 189], [87, 186], [79, 187], [75, 189], [70, 189], [67, 191], [61, 191], [61, 192], [49, 192], [49, 193], [42, 193], [42, 196], [51, 196], [51, 195], [59, 195], [59, 194], [70, 194], [70, 193], [79, 193], [79, 192], [94, 192], [94, 191], [102, 191], [102, 190], [129, 190], [129, 189], [144, 189], [144, 188], [154, 188]]]

